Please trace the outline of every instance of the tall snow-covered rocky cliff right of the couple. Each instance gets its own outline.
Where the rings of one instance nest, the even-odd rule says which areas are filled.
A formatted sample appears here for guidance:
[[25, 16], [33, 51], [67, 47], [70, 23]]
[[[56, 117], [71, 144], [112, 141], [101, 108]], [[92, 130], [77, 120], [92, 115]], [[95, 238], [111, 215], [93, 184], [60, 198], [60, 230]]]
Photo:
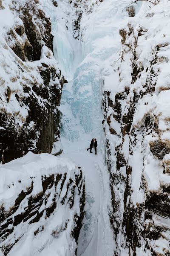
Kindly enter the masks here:
[[103, 98], [115, 255], [170, 255], [168, 2], [163, 10], [160, 2], [120, 30]]

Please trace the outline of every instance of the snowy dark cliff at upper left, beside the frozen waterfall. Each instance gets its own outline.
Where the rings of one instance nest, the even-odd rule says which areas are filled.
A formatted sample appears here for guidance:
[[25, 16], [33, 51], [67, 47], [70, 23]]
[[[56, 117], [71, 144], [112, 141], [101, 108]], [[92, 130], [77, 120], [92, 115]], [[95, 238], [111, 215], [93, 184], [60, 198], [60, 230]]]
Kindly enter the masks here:
[[0, 162], [28, 150], [57, 154], [64, 77], [51, 21], [37, 0], [0, 3]]

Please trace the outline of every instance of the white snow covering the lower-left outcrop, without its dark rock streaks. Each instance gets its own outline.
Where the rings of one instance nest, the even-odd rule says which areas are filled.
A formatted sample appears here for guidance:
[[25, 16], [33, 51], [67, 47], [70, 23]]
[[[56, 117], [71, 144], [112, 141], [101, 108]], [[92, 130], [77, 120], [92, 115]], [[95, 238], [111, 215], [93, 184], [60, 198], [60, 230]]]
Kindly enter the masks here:
[[[80, 196], [75, 184], [75, 175], [79, 175], [79, 172], [78, 167], [70, 160], [45, 153], [33, 154], [30, 151], [20, 159], [0, 165], [0, 205], [3, 205], [5, 212], [11, 210], [20, 193], [27, 191], [32, 181], [34, 182], [31, 193], [22, 200], [17, 211], [12, 215], [13, 219], [15, 219], [15, 216], [22, 214], [28, 207], [28, 198], [34, 198], [43, 191], [42, 177], [62, 175], [56, 190], [54, 184], [51, 188], [47, 188], [44, 194], [44, 198], [48, 195], [47, 203], [45, 204], [43, 201], [39, 209], [40, 213], [50, 207], [56, 195], [57, 207], [53, 214], [45, 217], [44, 210], [38, 222], [29, 224], [31, 218], [28, 218], [28, 221], [21, 221], [20, 224], [14, 227], [13, 232], [7, 239], [1, 241], [0, 245], [3, 247], [15, 243], [16, 239], [19, 240], [8, 253], [9, 256], [45, 256], [47, 253], [51, 256], [74, 255], [77, 244], [75, 239], [71, 238], [71, 232], [75, 227], [74, 215], [80, 215]], [[66, 175], [66, 179], [62, 187], [63, 175]], [[68, 191], [65, 203], [62, 202], [70, 179], [73, 180], [73, 185], [76, 186], [74, 205], [71, 209], [68, 203], [71, 191]], [[32, 219], [34, 217], [35, 215], [32, 216]], [[6, 221], [2, 224], [6, 224]], [[12, 225], [11, 227], [10, 225], [8, 225], [9, 229], [12, 228]], [[37, 232], [36, 235], [35, 232]], [[1, 250], [0, 255], [4, 255]]]

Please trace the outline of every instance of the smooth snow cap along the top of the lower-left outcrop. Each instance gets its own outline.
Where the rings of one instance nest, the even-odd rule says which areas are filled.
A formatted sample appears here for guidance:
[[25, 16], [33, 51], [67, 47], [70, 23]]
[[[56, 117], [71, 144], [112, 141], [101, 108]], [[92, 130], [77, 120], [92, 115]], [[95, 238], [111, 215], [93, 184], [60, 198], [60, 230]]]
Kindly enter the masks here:
[[[44, 175], [65, 172], [74, 179], [74, 172], [78, 174], [79, 170], [71, 160], [46, 153], [34, 154], [31, 151], [21, 158], [0, 165], [0, 204], [5, 200], [6, 210], [11, 207], [20, 191], [30, 186], [32, 177], [36, 176], [38, 181]], [[17, 186], [18, 182], [20, 186]], [[34, 186], [34, 195], [41, 189], [42, 187], [37, 183], [37, 186]]]

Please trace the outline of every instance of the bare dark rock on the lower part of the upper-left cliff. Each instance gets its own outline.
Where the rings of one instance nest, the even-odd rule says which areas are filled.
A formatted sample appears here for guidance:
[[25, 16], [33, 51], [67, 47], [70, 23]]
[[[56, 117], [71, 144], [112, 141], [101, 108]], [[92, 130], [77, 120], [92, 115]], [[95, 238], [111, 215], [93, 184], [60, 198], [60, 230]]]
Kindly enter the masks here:
[[[56, 79], [55, 70], [52, 72], [49, 67], [45, 70], [47, 70], [46, 76]], [[21, 157], [28, 150], [35, 153], [51, 153], [55, 136], [59, 137], [61, 112], [57, 106], [60, 103], [61, 86], [60, 84], [51, 86], [50, 93], [48, 89], [49, 87], [45, 85], [42, 87], [34, 85], [32, 88], [23, 89], [29, 96], [24, 98], [20, 104], [28, 106], [29, 111], [26, 122], [21, 128], [17, 127], [14, 117], [0, 113], [0, 126], [4, 127], [4, 130], [0, 130], [0, 161], [3, 163]], [[48, 102], [42, 107], [37, 96]], [[31, 122], [34, 122], [33, 128], [29, 128]]]

